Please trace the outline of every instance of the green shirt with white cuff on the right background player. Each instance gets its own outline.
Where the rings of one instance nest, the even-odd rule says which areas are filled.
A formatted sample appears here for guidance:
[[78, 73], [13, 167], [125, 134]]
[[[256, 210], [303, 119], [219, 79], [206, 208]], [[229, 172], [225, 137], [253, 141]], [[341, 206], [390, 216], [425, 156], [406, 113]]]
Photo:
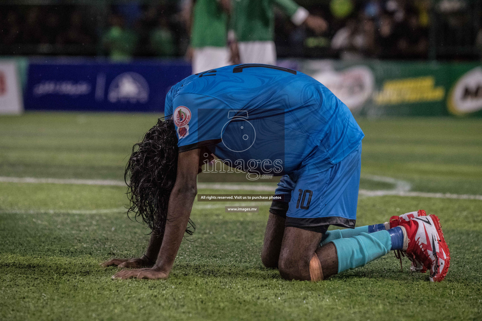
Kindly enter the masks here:
[[273, 6], [279, 7], [296, 25], [305, 21], [308, 12], [293, 0], [233, 0], [230, 27], [238, 41], [274, 39]]

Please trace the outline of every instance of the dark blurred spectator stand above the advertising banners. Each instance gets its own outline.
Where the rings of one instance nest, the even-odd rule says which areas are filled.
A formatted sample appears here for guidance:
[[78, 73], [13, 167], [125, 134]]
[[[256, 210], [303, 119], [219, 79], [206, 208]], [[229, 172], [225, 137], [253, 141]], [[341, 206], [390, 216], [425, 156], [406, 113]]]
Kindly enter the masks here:
[[[4, 0], [0, 3], [0, 54], [107, 55], [102, 37], [118, 19], [138, 37], [133, 56], [182, 57], [189, 37], [180, 16], [181, 2]], [[351, 9], [343, 1], [297, 2], [325, 18], [329, 31], [316, 37], [277, 12], [279, 57], [336, 58], [340, 50], [331, 49], [330, 40], [347, 25], [369, 29], [364, 37], [374, 41], [360, 50], [366, 58], [470, 60], [482, 54], [482, 5], [477, 0], [347, 1]], [[391, 25], [391, 31], [380, 32], [382, 24]], [[164, 51], [149, 41], [149, 33], [160, 27], [172, 36]], [[425, 42], [420, 50], [406, 45], [417, 40]]]

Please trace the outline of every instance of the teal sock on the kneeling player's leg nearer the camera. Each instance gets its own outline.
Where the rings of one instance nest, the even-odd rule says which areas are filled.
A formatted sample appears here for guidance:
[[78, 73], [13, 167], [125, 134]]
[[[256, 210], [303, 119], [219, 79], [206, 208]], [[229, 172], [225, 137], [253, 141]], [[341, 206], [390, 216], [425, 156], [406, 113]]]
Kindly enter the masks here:
[[391, 236], [388, 231], [362, 232], [357, 236], [332, 241], [338, 255], [338, 273], [364, 266], [390, 251]]

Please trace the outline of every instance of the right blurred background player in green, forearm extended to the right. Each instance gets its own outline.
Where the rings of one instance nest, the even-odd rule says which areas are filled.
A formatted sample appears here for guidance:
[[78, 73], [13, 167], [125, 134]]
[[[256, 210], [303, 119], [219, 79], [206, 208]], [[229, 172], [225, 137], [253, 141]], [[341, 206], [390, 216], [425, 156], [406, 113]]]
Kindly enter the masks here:
[[276, 64], [274, 44], [274, 11], [279, 7], [296, 26], [305, 24], [316, 34], [321, 34], [328, 24], [321, 17], [312, 15], [293, 0], [234, 0], [230, 22], [231, 50], [236, 52], [236, 42], [241, 64]]

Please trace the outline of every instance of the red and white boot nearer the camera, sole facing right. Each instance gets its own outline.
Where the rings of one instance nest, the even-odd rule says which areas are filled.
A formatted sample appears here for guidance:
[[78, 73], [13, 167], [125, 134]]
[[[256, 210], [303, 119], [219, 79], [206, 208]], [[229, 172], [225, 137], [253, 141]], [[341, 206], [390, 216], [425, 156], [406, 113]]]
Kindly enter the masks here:
[[435, 215], [419, 216], [402, 221], [407, 231], [408, 247], [404, 254], [430, 272], [430, 281], [440, 282], [447, 275], [450, 252], [443, 238], [439, 218]]

